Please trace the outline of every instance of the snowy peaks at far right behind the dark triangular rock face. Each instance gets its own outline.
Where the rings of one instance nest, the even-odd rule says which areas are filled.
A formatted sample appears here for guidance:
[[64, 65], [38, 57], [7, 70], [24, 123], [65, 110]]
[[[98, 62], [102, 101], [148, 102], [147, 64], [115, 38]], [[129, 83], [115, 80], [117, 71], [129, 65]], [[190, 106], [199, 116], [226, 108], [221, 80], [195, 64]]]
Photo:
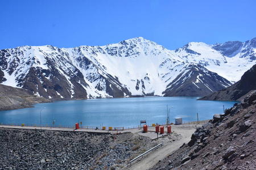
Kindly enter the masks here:
[[256, 38], [246, 42], [228, 41], [215, 45], [189, 42], [176, 49], [175, 55], [184, 58], [186, 62], [199, 63], [234, 83], [255, 64], [255, 44]]

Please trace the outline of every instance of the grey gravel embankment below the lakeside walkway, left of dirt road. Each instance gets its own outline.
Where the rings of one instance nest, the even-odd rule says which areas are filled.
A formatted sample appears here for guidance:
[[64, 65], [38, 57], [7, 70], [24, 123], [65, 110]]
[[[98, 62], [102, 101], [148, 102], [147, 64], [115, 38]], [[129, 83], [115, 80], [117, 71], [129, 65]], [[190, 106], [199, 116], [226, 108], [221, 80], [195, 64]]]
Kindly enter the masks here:
[[0, 169], [122, 168], [155, 145], [133, 133], [0, 129]]

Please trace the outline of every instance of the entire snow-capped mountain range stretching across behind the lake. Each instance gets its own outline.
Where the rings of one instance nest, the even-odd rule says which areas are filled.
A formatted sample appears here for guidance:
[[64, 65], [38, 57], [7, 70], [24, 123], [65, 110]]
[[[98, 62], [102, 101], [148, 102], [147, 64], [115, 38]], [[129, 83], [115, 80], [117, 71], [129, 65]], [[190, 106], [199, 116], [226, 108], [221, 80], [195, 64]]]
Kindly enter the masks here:
[[142, 37], [105, 46], [20, 46], [0, 50], [0, 83], [46, 98], [207, 95], [255, 64], [255, 40], [176, 50]]

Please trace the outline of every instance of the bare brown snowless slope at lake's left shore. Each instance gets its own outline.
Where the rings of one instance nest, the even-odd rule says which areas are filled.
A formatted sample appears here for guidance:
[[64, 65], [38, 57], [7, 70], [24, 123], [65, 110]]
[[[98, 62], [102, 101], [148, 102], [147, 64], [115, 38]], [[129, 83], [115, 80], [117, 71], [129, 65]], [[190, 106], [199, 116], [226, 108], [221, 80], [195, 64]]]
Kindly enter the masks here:
[[33, 95], [30, 91], [0, 84], [0, 111], [28, 108], [32, 104], [47, 102], [51, 101]]

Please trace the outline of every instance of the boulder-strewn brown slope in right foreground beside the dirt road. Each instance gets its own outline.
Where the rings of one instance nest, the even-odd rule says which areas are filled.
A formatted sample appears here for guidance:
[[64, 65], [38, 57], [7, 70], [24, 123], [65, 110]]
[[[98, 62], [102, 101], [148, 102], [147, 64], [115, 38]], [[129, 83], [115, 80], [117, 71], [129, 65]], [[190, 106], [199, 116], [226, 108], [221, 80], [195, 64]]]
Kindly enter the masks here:
[[225, 114], [215, 114], [152, 169], [256, 169], [255, 108], [256, 91]]

